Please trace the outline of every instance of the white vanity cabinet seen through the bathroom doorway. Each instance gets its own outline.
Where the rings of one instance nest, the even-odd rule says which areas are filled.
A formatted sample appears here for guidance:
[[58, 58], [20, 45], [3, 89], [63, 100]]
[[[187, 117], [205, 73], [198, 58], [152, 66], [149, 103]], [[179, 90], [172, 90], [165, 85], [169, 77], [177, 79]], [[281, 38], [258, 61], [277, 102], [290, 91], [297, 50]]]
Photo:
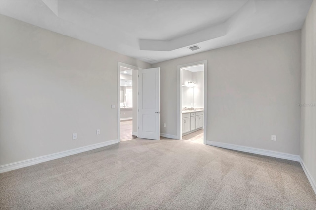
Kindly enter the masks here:
[[182, 136], [198, 129], [202, 129], [204, 126], [204, 112], [190, 112], [182, 114]]

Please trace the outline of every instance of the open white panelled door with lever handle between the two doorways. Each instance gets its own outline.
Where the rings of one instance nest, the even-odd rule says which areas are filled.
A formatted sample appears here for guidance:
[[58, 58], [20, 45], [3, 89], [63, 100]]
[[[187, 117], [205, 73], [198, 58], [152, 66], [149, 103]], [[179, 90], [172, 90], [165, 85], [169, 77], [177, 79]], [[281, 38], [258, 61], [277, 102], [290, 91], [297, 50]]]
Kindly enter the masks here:
[[160, 140], [160, 68], [138, 70], [138, 135]]

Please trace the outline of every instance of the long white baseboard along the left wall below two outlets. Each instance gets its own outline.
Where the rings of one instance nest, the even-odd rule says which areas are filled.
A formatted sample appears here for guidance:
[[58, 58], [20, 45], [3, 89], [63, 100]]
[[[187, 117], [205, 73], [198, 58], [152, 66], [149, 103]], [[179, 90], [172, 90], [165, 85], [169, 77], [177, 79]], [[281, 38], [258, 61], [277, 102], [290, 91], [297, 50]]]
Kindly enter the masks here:
[[67, 151], [63, 151], [63, 152], [57, 152], [57, 153], [53, 153], [50, 155], [44, 155], [44, 156], [40, 156], [40, 157], [36, 157], [36, 158], [31, 158], [28, 160], [22, 160], [22, 161], [18, 161], [15, 163], [9, 163], [9, 164], [5, 164], [3, 166], [0, 166], [0, 173], [2, 172], [8, 172], [14, 169], [19, 169], [19, 168], [23, 168], [23, 167], [27, 167], [27, 166], [32, 166], [38, 163], [42, 163], [42, 162], [46, 162], [46, 161], [50, 161], [50, 160], [54, 160], [54, 159], [58, 159], [58, 158], [62, 158], [62, 157], [66, 157], [66, 156], [70, 156], [70, 155], [74, 155], [74, 154], [78, 154], [81, 152], [86, 152], [89, 150], [93, 150], [93, 149], [97, 149], [97, 148], [101, 148], [104, 146], [109, 146], [112, 144], [116, 144], [118, 143], [118, 140], [109, 140], [109, 141], [105, 141], [102, 143], [97, 143], [97, 144], [92, 144], [89, 146], [83, 146], [83, 147], [79, 147], [76, 149], [70, 149]]

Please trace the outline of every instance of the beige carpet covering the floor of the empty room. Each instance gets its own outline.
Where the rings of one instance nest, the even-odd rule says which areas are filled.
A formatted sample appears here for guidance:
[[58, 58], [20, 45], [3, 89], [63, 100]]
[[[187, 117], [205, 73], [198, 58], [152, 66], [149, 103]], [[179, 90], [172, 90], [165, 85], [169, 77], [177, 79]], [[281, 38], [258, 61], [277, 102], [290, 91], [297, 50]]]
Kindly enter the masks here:
[[1, 210], [316, 209], [298, 162], [134, 139], [1, 174]]

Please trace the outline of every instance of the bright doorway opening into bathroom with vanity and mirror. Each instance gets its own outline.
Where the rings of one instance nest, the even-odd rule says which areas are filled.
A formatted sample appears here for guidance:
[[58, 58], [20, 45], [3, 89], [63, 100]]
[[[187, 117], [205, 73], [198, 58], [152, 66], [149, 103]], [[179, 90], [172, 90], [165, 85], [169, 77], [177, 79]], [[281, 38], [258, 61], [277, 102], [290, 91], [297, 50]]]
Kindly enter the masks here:
[[178, 66], [178, 139], [206, 144], [207, 62]]

